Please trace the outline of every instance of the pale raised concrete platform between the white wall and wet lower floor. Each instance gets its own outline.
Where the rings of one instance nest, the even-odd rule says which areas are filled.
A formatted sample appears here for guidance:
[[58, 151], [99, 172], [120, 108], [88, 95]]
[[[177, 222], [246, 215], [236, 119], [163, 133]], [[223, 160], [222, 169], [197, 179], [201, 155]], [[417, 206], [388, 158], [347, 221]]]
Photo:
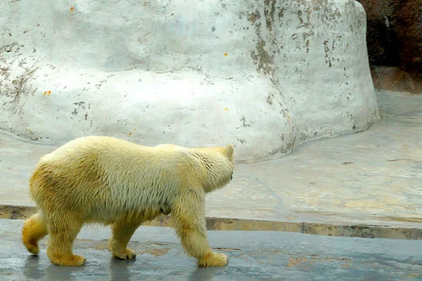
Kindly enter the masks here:
[[[245, 220], [243, 227], [222, 221], [223, 230], [262, 229], [263, 221], [296, 232], [306, 230], [304, 223], [321, 224], [307, 233], [325, 235], [336, 235], [327, 225], [421, 230], [422, 96], [378, 91], [378, 103], [382, 119], [367, 131], [307, 143], [279, 159], [236, 164], [234, 180], [207, 195], [207, 216]], [[0, 204], [34, 206], [30, 173], [54, 148], [0, 134]]]

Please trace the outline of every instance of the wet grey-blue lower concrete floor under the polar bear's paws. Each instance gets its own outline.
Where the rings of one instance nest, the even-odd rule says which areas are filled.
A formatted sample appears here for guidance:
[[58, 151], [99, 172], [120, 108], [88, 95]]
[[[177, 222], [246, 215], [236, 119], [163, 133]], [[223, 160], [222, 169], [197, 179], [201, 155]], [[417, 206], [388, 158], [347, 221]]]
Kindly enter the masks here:
[[222, 268], [197, 268], [169, 228], [141, 227], [129, 247], [134, 261], [117, 261], [106, 249], [110, 231], [85, 227], [75, 253], [85, 266], [52, 265], [42, 242], [32, 256], [20, 242], [23, 221], [0, 220], [0, 280], [422, 280], [422, 244], [300, 233], [210, 231]]

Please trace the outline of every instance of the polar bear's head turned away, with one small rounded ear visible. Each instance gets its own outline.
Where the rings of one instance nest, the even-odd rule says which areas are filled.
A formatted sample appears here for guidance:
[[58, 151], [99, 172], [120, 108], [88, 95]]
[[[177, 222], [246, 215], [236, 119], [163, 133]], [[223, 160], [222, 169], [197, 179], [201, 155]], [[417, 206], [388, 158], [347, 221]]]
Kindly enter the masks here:
[[226, 145], [225, 148], [210, 148], [208, 157], [203, 161], [207, 167], [207, 179], [205, 181], [205, 192], [211, 192], [223, 188], [233, 178], [234, 171], [234, 146]]

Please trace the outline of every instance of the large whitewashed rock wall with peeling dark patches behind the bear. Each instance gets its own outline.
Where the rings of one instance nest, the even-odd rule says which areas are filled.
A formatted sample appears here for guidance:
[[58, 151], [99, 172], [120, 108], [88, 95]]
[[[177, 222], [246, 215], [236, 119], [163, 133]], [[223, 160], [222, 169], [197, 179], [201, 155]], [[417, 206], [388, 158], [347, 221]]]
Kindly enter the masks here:
[[0, 129], [236, 145], [239, 161], [378, 117], [352, 0], [1, 1]]

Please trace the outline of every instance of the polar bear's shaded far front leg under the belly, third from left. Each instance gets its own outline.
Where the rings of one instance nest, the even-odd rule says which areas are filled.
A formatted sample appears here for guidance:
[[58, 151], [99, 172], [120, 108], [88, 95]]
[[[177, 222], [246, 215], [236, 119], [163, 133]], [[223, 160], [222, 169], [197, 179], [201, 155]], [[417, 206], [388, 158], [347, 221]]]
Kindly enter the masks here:
[[113, 236], [108, 243], [111, 253], [116, 259], [135, 259], [135, 252], [127, 248], [130, 238], [135, 231], [141, 226], [141, 221], [117, 221], [111, 226]]

